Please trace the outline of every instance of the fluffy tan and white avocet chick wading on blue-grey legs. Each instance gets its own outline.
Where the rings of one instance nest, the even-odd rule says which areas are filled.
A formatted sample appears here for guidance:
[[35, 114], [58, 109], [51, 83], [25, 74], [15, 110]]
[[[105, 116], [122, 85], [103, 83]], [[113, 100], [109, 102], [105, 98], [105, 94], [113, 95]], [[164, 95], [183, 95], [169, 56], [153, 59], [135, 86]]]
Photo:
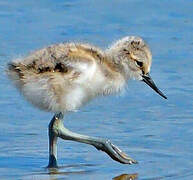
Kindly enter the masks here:
[[97, 96], [119, 93], [128, 80], [144, 81], [162, 97], [149, 76], [152, 55], [140, 37], [125, 37], [109, 49], [80, 43], [61, 43], [8, 64], [7, 73], [34, 106], [55, 115], [49, 124], [49, 164], [57, 167], [57, 138], [93, 145], [112, 159], [137, 163], [109, 140], [69, 131], [62, 119]]

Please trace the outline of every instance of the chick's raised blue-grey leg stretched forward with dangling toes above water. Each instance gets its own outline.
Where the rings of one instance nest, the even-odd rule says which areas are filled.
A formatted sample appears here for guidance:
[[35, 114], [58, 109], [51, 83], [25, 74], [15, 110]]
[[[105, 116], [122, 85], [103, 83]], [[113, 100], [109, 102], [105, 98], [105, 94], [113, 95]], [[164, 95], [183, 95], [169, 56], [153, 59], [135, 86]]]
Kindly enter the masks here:
[[62, 113], [55, 115], [55, 118], [56, 120], [54, 124], [54, 133], [55, 135], [57, 135], [57, 137], [60, 137], [64, 140], [72, 140], [93, 145], [98, 150], [106, 152], [115, 161], [118, 161], [123, 164], [137, 163], [137, 161], [131, 159], [124, 152], [122, 152], [117, 146], [112, 144], [109, 140], [85, 136], [66, 129], [62, 122], [63, 118]]

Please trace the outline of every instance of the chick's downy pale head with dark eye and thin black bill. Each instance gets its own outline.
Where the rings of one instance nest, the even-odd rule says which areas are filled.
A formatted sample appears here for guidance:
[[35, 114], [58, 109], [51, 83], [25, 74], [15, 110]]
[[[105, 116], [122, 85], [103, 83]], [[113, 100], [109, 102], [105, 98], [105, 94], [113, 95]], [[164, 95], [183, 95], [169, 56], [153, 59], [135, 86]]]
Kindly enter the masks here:
[[136, 36], [125, 37], [117, 41], [108, 50], [119, 64], [127, 79], [136, 79], [145, 82], [163, 98], [167, 97], [156, 87], [149, 72], [152, 55], [145, 41]]

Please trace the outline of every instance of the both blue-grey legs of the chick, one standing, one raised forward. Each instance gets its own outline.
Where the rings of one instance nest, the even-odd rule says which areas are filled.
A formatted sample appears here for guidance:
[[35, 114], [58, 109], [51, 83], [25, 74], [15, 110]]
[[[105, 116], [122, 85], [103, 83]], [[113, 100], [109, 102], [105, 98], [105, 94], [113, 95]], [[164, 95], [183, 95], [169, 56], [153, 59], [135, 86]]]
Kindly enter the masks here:
[[115, 161], [118, 161], [123, 164], [137, 163], [137, 161], [131, 159], [128, 155], [122, 152], [117, 146], [112, 144], [109, 140], [85, 136], [85, 135], [74, 133], [68, 130], [67, 128], [64, 127], [62, 119], [63, 119], [63, 114], [59, 113], [54, 116], [54, 118], [52, 119], [53, 122], [52, 121], [50, 122], [50, 127], [51, 127], [51, 130], [50, 130], [51, 135], [49, 135], [50, 159], [49, 159], [48, 167], [52, 167], [53, 165], [57, 166], [56, 147], [55, 147], [57, 137], [60, 137], [64, 140], [72, 140], [76, 142], [90, 144], [95, 148], [97, 148], [98, 150], [106, 152]]

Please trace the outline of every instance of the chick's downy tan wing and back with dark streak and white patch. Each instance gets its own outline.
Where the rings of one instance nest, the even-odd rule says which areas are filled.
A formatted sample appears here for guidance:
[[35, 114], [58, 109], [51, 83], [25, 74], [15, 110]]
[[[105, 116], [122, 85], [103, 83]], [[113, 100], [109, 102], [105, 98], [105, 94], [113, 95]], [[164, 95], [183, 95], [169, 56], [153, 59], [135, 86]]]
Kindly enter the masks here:
[[28, 75], [43, 77], [53, 73], [59, 73], [66, 80], [80, 76], [88, 78], [93, 76], [96, 64], [102, 58], [102, 52], [95, 47], [61, 43], [40, 49], [18, 62], [10, 63], [9, 70], [17, 72], [21, 79]]

